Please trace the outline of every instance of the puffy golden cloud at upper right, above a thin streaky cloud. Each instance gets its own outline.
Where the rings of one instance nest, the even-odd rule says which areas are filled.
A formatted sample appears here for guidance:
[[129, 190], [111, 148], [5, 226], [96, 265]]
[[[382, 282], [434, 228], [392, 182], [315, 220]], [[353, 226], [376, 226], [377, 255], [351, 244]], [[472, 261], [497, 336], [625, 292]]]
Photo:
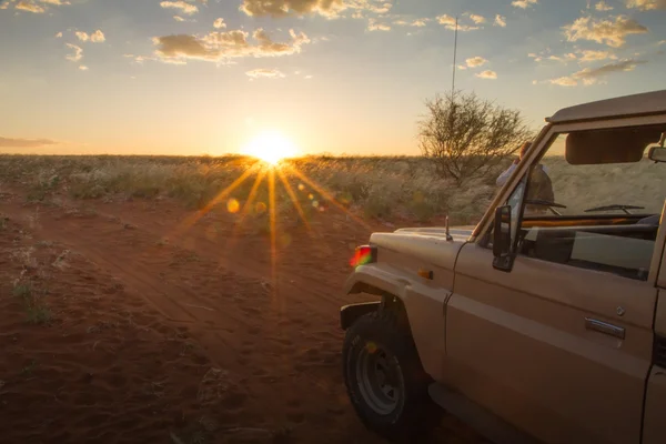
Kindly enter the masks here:
[[643, 24], [625, 16], [618, 16], [613, 21], [595, 20], [592, 17], [581, 17], [572, 24], [563, 27], [564, 34], [568, 41], [591, 40], [597, 43], [606, 43], [613, 48], [619, 48], [626, 43], [629, 34], [644, 34], [647, 31]]

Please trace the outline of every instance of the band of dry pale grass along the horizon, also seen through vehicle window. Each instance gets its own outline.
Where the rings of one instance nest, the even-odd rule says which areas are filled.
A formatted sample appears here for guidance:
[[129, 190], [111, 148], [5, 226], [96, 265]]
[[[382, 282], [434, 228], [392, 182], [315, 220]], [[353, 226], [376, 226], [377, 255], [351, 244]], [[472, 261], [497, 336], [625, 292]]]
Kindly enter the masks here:
[[[28, 188], [30, 200], [57, 202], [62, 193], [74, 199], [173, 198], [196, 209], [203, 208], [255, 164], [240, 157], [0, 155], [0, 180]], [[456, 188], [453, 180], [437, 176], [433, 165], [423, 158], [310, 157], [290, 164], [363, 218], [427, 223], [435, 216], [450, 214], [456, 224], [478, 221], [497, 191], [495, 178], [506, 167]], [[588, 208], [591, 199], [595, 205], [630, 203], [643, 204], [655, 212], [662, 209], [663, 196], [655, 199], [655, 193], [648, 191], [664, 189], [663, 165], [644, 161], [630, 165], [574, 168], [562, 158], [548, 158], [545, 164], [553, 178], [556, 200], [565, 203], [569, 212]], [[325, 206], [326, 199], [317, 190], [290, 169], [282, 171], [306, 218]], [[243, 210], [256, 175], [252, 173], [221, 204], [233, 199], [234, 205], [238, 204], [234, 211]], [[278, 216], [299, 223], [289, 190], [278, 178], [275, 182]], [[249, 208], [249, 216], [254, 218], [259, 226], [268, 224], [268, 203], [269, 188], [264, 180], [254, 204]]]

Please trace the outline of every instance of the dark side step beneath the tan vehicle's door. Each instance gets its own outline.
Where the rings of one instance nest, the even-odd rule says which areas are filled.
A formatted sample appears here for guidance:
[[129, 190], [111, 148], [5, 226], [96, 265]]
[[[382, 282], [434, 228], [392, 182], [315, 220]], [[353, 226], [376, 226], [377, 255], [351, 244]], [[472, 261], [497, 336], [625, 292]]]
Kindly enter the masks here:
[[433, 383], [428, 387], [433, 401], [446, 412], [468, 424], [486, 440], [495, 444], [538, 444], [539, 441], [516, 428], [488, 410], [444, 384]]

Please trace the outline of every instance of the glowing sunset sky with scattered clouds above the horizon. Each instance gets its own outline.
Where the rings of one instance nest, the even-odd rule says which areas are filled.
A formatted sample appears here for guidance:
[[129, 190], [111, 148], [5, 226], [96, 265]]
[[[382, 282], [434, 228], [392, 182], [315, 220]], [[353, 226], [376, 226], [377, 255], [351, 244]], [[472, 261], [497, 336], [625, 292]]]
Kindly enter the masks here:
[[666, 0], [0, 0], [0, 152], [417, 154], [457, 82], [521, 109], [666, 88]]

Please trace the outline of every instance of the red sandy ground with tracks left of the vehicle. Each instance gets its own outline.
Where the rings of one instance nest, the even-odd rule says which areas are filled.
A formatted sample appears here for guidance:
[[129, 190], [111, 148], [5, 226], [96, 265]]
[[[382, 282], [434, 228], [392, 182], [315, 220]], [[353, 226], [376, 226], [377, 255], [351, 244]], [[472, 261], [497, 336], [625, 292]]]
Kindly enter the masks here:
[[[341, 287], [367, 228], [330, 210], [314, 238], [279, 229], [273, 281], [268, 236], [232, 249], [225, 211], [176, 235], [192, 211], [173, 202], [33, 204], [4, 191], [1, 443], [381, 442], [340, 364], [339, 307], [360, 300]], [[19, 276], [51, 321], [27, 321]], [[481, 441], [445, 417], [434, 442]]]

